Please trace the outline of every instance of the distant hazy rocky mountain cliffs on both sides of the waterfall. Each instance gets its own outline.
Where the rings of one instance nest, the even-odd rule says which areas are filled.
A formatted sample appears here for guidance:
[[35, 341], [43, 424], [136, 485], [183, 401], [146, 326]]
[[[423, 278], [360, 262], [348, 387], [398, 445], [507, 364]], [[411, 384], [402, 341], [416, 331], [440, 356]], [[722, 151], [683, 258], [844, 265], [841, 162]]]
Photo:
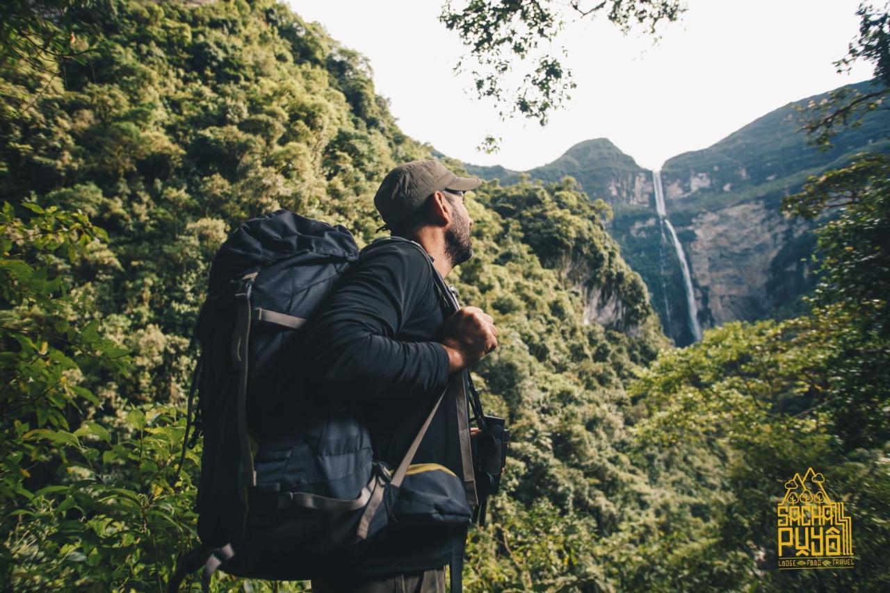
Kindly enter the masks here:
[[[860, 90], [869, 83], [851, 85]], [[797, 108], [826, 97], [791, 103], [756, 119], [714, 146], [669, 159], [661, 177], [667, 217], [692, 272], [702, 327], [736, 319], [784, 317], [813, 287], [812, 225], [781, 214], [781, 198], [797, 192], [809, 175], [841, 166], [864, 150], [890, 151], [890, 115], [873, 112], [862, 125], [839, 134], [820, 151], [798, 132]], [[468, 170], [483, 178], [518, 179], [503, 167]], [[625, 260], [643, 277], [665, 332], [677, 344], [692, 341], [679, 260], [655, 211], [651, 171], [609, 140], [587, 140], [551, 164], [527, 172], [554, 181], [570, 175], [592, 199], [615, 213], [611, 234]], [[591, 293], [592, 318], [617, 315], [619, 303]], [[603, 324], [608, 325], [608, 324]]]

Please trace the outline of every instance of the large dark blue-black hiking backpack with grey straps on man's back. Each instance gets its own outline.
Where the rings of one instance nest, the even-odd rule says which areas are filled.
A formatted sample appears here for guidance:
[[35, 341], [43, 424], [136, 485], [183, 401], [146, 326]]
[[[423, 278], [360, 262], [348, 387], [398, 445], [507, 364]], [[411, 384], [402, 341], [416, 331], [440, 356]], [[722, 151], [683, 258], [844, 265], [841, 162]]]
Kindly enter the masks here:
[[[378, 241], [387, 240], [394, 239]], [[201, 566], [205, 590], [217, 569], [276, 581], [311, 579], [332, 559], [348, 564], [373, 545], [400, 505], [405, 517], [453, 527], [451, 587], [460, 590], [475, 502], [465, 489], [467, 479], [473, 488], [473, 477], [466, 477], [466, 465], [466, 479], [436, 464], [410, 465], [449, 389], [395, 468], [375, 458], [358, 412], [303, 392], [311, 369], [298, 364], [301, 327], [359, 258], [346, 228], [284, 210], [248, 220], [216, 254], [195, 332], [201, 357], [189, 405], [191, 419], [197, 390], [195, 436], [204, 439], [196, 506], [201, 546], [181, 558], [168, 590]], [[434, 271], [433, 277], [447, 302], [441, 276]], [[448, 306], [457, 306], [453, 296]], [[478, 419], [481, 405], [474, 399]]]

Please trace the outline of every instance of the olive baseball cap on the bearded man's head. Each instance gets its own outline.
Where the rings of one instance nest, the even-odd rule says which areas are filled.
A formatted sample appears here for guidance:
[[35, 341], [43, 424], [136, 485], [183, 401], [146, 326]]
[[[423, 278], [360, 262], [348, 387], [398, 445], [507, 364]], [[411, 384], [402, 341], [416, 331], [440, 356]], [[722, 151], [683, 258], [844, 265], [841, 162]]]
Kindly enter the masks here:
[[481, 179], [475, 177], [457, 177], [439, 161], [400, 164], [386, 173], [374, 196], [377, 212], [380, 212], [386, 223], [377, 230], [392, 228], [393, 224], [407, 219], [434, 192], [443, 189], [469, 191], [478, 188], [481, 182]]

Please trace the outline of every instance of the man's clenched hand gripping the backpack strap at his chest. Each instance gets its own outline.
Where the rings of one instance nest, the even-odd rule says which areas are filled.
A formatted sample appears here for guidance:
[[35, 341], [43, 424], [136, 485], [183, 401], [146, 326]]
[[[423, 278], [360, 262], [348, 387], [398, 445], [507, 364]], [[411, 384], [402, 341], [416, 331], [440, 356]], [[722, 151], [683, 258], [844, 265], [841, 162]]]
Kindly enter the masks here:
[[464, 307], [445, 320], [440, 342], [448, 351], [449, 373], [454, 373], [498, 348], [498, 328], [482, 309]]

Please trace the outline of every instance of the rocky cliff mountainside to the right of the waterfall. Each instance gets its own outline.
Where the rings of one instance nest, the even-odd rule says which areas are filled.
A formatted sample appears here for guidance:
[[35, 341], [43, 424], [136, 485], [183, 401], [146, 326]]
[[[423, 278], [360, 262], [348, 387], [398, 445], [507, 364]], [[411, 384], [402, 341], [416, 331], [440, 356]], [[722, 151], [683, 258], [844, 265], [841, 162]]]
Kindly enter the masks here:
[[712, 147], [664, 164], [667, 212], [689, 254], [702, 325], [796, 309], [813, 286], [815, 240], [813, 225], [781, 214], [782, 197], [858, 152], [890, 150], [886, 112], [866, 116], [829, 150], [808, 146], [797, 108], [824, 97], [775, 109]]

